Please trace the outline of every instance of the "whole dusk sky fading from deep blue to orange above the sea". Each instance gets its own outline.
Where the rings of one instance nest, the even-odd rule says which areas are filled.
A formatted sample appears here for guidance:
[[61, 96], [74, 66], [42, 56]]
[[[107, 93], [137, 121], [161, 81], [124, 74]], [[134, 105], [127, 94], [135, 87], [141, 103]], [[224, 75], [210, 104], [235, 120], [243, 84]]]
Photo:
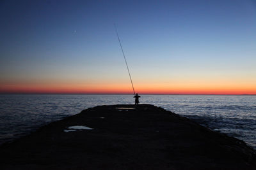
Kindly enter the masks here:
[[256, 1], [0, 1], [0, 93], [256, 94]]

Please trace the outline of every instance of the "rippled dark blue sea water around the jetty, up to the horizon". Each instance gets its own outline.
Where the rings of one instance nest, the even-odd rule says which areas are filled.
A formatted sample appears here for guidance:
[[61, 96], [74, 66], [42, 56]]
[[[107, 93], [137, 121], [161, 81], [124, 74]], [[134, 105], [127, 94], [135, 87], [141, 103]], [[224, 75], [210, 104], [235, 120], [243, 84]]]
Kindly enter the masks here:
[[[173, 111], [256, 149], [256, 96], [140, 96], [141, 104]], [[133, 103], [132, 95], [1, 94], [0, 144], [86, 108]]]

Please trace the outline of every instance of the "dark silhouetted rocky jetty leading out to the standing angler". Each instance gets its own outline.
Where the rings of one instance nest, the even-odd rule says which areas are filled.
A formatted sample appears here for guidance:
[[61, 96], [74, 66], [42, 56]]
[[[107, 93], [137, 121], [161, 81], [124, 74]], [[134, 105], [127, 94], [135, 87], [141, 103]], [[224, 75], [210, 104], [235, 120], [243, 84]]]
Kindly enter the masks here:
[[[156, 106], [132, 108], [97, 106], [2, 145], [0, 169], [256, 169], [243, 141]], [[93, 130], [64, 132], [74, 125]]]

